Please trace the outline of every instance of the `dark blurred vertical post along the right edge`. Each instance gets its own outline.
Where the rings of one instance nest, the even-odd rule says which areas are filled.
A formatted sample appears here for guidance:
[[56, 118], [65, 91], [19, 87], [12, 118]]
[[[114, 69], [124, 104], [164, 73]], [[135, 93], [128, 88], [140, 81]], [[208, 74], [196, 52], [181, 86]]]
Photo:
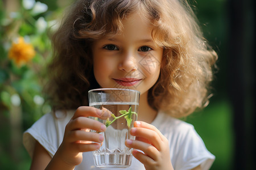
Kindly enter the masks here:
[[229, 96], [234, 113], [234, 166], [255, 167], [255, 1], [229, 0]]

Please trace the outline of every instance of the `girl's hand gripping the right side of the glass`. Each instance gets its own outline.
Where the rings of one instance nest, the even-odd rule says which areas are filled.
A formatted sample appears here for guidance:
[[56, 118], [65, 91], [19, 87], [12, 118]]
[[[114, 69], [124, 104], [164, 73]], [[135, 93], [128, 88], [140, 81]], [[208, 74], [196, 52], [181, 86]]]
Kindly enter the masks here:
[[136, 140], [126, 140], [125, 144], [127, 147], [134, 148], [133, 156], [144, 164], [147, 170], [174, 169], [171, 163], [168, 139], [155, 126], [135, 121], [130, 134], [134, 135]]

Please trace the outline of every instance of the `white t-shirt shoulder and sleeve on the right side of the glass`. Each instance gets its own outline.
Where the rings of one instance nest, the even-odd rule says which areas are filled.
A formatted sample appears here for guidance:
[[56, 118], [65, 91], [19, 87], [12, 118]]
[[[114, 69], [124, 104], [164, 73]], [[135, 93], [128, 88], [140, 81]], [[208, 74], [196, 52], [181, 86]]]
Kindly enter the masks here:
[[199, 164], [202, 169], [208, 169], [215, 157], [207, 150], [194, 126], [168, 114], [158, 114], [152, 124], [169, 141], [174, 169], [192, 169]]

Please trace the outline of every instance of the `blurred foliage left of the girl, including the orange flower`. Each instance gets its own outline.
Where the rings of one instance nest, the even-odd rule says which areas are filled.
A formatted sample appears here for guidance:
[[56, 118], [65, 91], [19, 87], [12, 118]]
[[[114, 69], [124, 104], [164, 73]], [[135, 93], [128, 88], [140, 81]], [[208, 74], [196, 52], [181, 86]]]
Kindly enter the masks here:
[[[68, 1], [0, 1], [0, 167], [29, 169], [31, 159], [22, 145], [22, 133], [51, 111], [45, 102], [43, 84], [51, 59], [48, 29], [54, 29], [63, 4]], [[34, 48], [31, 61], [18, 65], [10, 59], [13, 43]], [[16, 57], [26, 57], [27, 46], [19, 44]], [[23, 46], [22, 46], [23, 45]], [[24, 49], [22, 49], [24, 48]], [[24, 54], [22, 54], [24, 53]], [[14, 56], [15, 57], [15, 56]]]

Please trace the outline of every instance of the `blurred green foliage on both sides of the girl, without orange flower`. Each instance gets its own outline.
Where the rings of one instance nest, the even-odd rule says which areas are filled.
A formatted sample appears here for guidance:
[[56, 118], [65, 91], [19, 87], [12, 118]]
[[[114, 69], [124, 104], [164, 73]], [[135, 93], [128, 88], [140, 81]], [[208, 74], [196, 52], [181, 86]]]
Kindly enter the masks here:
[[[0, 167], [29, 169], [31, 159], [22, 146], [22, 133], [51, 107], [44, 101], [43, 84], [47, 82], [46, 65], [51, 59], [48, 28], [55, 28], [65, 6], [71, 0], [0, 1]], [[208, 150], [216, 156], [211, 169], [231, 169], [233, 154], [232, 110], [226, 97], [225, 44], [226, 14], [224, 0], [192, 2], [210, 45], [219, 53], [213, 83], [214, 97], [203, 111], [187, 118], [203, 138]], [[39, 5], [39, 10], [36, 8]], [[40, 6], [41, 5], [41, 6]], [[16, 8], [15, 8], [16, 7]], [[34, 46], [32, 61], [17, 66], [8, 58], [18, 37]]]

